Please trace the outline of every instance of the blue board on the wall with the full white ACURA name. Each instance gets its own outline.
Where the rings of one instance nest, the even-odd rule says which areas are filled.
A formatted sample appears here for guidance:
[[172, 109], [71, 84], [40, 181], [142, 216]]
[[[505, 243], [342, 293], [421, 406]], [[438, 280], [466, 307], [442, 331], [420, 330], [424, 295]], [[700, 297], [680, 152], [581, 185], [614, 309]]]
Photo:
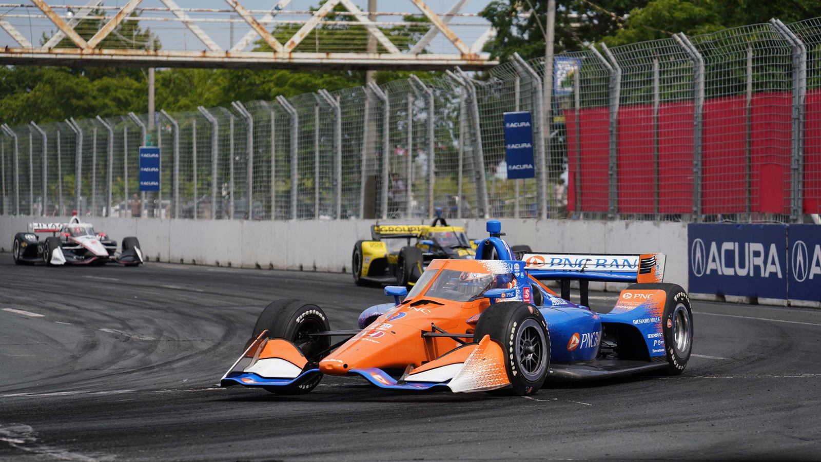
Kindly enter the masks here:
[[787, 299], [787, 226], [687, 226], [690, 292]]

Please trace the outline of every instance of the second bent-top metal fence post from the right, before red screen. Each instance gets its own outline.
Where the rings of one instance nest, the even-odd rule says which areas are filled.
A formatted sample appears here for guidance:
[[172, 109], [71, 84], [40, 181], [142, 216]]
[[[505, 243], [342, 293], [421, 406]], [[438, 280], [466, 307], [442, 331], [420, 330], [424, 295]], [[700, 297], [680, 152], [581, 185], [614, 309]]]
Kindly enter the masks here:
[[701, 182], [704, 153], [704, 57], [690, 42], [684, 33], [672, 36], [693, 60], [693, 220], [700, 223], [701, 216]]

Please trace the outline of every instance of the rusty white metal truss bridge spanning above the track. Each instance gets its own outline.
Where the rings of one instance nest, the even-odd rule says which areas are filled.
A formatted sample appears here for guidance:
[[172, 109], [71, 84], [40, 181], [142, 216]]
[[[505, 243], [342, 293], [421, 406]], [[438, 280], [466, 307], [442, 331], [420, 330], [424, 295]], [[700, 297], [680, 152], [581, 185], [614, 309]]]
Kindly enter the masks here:
[[[291, 0], [278, 0], [267, 10], [225, 2], [222, 9], [181, 7], [174, 0], [127, 0], [118, 7], [102, 0], [0, 4], [0, 28], [8, 34], [0, 33], [6, 39], [0, 65], [323, 70], [498, 65], [480, 53], [493, 29], [478, 15], [461, 12], [467, 0], [453, 0], [447, 12], [434, 12], [424, 0], [396, 0], [392, 7], [406, 4], [411, 12], [376, 13], [362, 11], [352, 0], [328, 0], [312, 12], [287, 10]], [[147, 46], [147, 30], [158, 37], [157, 49]]]

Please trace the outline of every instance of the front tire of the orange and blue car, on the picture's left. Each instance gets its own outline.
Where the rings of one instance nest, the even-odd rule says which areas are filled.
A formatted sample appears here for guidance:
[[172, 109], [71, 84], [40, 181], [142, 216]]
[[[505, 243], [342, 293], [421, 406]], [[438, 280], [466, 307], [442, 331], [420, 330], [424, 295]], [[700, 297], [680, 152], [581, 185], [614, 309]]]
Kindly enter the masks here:
[[[309, 335], [330, 330], [328, 316], [325, 316], [322, 308], [301, 300], [286, 299], [269, 303], [257, 318], [249, 344], [264, 330], [268, 330], [269, 339], [285, 339], [293, 342], [310, 362], [319, 362], [331, 347], [330, 337]], [[301, 395], [314, 390], [321, 380], [322, 374], [317, 373], [316, 377], [298, 386], [265, 386], [263, 388], [278, 395]]]

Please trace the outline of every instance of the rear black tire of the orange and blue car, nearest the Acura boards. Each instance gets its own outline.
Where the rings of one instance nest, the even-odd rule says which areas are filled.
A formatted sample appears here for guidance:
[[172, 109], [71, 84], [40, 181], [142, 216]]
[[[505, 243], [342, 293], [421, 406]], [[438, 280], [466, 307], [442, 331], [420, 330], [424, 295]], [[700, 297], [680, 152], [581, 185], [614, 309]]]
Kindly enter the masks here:
[[662, 314], [664, 354], [668, 375], [681, 374], [693, 351], [693, 310], [690, 298], [680, 285], [667, 283], [632, 284], [627, 290], [663, 290], [667, 293]]

